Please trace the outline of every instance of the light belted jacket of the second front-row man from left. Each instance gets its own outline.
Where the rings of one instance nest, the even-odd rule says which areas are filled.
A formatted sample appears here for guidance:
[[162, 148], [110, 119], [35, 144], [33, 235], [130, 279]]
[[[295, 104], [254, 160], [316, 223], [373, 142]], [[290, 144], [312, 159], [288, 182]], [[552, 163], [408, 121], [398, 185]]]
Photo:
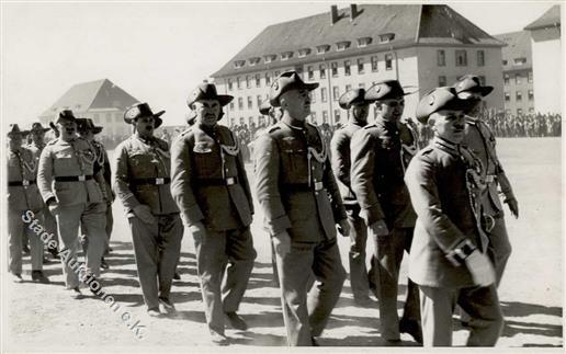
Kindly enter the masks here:
[[[57, 138], [47, 142], [39, 156], [37, 184], [44, 202], [55, 197], [61, 206], [100, 203], [105, 187], [97, 151], [83, 138], [65, 141]], [[86, 176], [83, 181], [56, 181], [57, 178]]]

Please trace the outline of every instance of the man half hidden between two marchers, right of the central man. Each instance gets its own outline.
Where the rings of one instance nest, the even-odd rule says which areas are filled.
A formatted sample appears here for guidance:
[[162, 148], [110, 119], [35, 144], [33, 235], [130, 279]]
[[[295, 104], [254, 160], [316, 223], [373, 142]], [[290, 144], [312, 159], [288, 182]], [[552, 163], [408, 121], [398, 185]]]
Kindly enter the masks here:
[[[360, 217], [360, 205], [350, 186], [350, 141], [355, 132], [367, 125], [370, 102], [364, 99], [364, 89], [353, 89], [340, 96], [338, 101], [342, 110], [349, 111], [350, 119], [338, 129], [330, 141], [332, 171], [335, 173], [340, 194], [343, 198], [348, 222], [350, 224], [350, 284], [354, 301], [362, 306], [371, 302], [369, 290], [375, 289], [373, 279], [369, 276], [365, 265], [365, 249], [367, 244], [367, 227]], [[372, 267], [375, 262], [372, 262]], [[372, 269], [370, 274], [375, 270]], [[373, 282], [372, 282], [373, 283]]]

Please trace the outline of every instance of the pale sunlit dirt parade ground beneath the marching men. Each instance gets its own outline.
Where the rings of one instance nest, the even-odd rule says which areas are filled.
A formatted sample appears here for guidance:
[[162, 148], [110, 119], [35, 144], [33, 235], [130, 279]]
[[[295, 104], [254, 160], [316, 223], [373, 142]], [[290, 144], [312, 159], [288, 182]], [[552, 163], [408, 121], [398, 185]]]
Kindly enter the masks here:
[[[506, 206], [513, 252], [499, 288], [506, 326], [497, 346], [505, 352], [505, 349], [520, 346], [562, 347], [562, 141], [559, 138], [501, 138], [498, 144], [500, 160], [519, 201], [520, 218], [511, 218]], [[253, 186], [251, 164], [248, 172]], [[137, 279], [127, 219], [118, 201], [113, 210], [113, 252], [106, 258], [110, 269], [103, 271], [101, 281], [104, 292], [118, 308], [111, 308], [86, 288], [82, 289], [86, 298], [71, 299], [64, 289], [60, 263], [54, 261], [45, 265], [52, 284], [32, 283], [30, 256], [24, 256], [24, 283], [8, 283], [2, 276], [5, 351], [217, 351], [210, 346], [191, 235], [184, 233], [179, 267], [181, 281], [176, 281], [172, 289], [178, 312], [172, 317], [150, 318], [146, 315]], [[272, 281], [269, 238], [261, 228], [262, 217], [257, 205], [252, 233], [258, 259], [239, 309], [249, 329], [227, 330], [231, 345], [224, 351], [236, 346], [242, 352], [258, 352], [260, 349], [249, 346], [286, 345], [280, 290]], [[4, 238], [4, 255], [5, 244]], [[348, 270], [349, 239], [340, 238], [339, 245]], [[2, 272], [7, 274], [5, 264]], [[406, 274], [407, 263], [404, 262], [399, 310], [405, 298]], [[319, 343], [339, 346], [342, 352], [354, 350], [348, 346], [356, 350], [380, 346], [378, 323], [377, 302], [371, 308], [355, 306], [347, 281]], [[467, 331], [456, 320], [454, 329], [454, 344], [463, 345]], [[409, 335], [403, 334], [401, 339], [404, 345], [415, 345]]]

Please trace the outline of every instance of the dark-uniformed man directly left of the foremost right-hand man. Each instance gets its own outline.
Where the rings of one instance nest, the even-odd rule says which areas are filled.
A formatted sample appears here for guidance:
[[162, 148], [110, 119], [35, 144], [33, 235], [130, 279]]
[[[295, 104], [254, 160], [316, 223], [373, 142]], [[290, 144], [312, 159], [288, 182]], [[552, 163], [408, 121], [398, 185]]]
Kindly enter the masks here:
[[377, 82], [370, 88], [365, 100], [376, 103], [375, 123], [359, 129], [351, 141], [351, 187], [375, 244], [380, 324], [387, 345], [397, 345], [403, 332], [419, 343], [422, 341], [419, 293], [410, 279], [400, 321], [397, 316], [399, 269], [404, 251], [410, 251], [416, 220], [403, 181], [405, 169], [417, 150], [416, 134], [400, 122], [404, 96], [405, 91], [397, 80]]

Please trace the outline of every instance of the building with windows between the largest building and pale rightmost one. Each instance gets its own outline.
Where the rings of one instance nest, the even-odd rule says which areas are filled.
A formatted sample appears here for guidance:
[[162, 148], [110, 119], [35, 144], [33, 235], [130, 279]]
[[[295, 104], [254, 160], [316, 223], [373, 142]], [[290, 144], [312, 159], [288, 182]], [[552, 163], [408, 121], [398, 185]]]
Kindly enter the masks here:
[[506, 113], [513, 115], [534, 113], [531, 33], [520, 31], [498, 34], [495, 37], [507, 44], [502, 48]]

